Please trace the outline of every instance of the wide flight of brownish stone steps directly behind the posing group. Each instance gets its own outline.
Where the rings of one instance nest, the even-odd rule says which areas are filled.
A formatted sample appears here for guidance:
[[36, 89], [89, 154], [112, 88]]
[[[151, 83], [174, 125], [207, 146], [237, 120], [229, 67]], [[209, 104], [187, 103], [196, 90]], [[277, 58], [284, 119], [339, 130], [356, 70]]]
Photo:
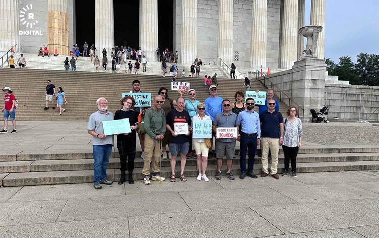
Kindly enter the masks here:
[[[66, 112], [58, 115], [57, 110], [43, 110], [45, 107], [46, 81], [50, 79], [56, 87], [65, 90], [68, 104], [64, 107]], [[178, 96], [171, 91], [171, 80], [158, 75], [129, 75], [109, 74], [103, 72], [65, 72], [62, 70], [37, 70], [37, 69], [0, 69], [0, 85], [9, 86], [14, 91], [18, 100], [18, 121], [87, 121], [91, 113], [96, 110], [96, 99], [106, 97], [110, 111], [115, 112], [120, 108], [119, 99], [122, 93], [132, 89], [132, 81], [141, 81], [141, 90], [158, 93], [160, 87], [169, 89], [171, 98]], [[177, 81], [191, 83], [191, 87], [197, 91], [197, 99], [204, 101], [209, 95], [201, 78], [179, 77]], [[234, 101], [234, 93], [243, 91], [242, 80], [219, 79], [218, 94], [223, 98]], [[251, 88], [265, 91], [266, 88], [257, 81], [251, 81]], [[54, 103], [56, 101], [54, 100]], [[51, 107], [51, 104], [50, 104]], [[283, 113], [287, 106], [280, 104]], [[258, 109], [257, 107], [255, 109]]]

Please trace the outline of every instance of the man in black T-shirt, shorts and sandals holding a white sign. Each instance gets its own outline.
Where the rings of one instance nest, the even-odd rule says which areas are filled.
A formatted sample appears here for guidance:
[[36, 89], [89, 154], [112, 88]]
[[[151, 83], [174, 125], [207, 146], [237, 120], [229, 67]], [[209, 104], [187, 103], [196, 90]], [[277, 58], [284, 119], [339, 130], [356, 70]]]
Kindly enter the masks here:
[[166, 116], [166, 127], [167, 130], [171, 133], [170, 137], [170, 152], [171, 152], [171, 182], [175, 182], [175, 166], [176, 166], [176, 157], [180, 154], [181, 157], [181, 166], [180, 166], [180, 180], [187, 181], [187, 178], [184, 176], [184, 167], [186, 163], [186, 154], [188, 154], [189, 149], [189, 125], [191, 119], [189, 118], [188, 111], [184, 110], [184, 98], [178, 97], [177, 107], [171, 110]]

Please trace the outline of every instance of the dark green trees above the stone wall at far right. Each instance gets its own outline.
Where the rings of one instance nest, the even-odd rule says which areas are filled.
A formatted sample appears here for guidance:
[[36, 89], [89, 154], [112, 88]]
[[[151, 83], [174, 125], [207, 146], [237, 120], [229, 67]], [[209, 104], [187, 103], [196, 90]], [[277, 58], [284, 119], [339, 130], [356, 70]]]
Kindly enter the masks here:
[[328, 74], [338, 76], [339, 80], [347, 80], [356, 85], [379, 86], [379, 55], [360, 53], [356, 64], [349, 56], [341, 57], [338, 64], [330, 58], [325, 63]]

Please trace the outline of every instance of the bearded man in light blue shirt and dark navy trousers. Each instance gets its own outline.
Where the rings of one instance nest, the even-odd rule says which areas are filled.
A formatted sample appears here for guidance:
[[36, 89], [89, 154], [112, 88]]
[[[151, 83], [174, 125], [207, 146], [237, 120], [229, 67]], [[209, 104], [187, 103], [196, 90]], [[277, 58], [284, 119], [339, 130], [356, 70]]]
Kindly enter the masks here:
[[[238, 131], [241, 132], [241, 134], [238, 135], [238, 140], [241, 142], [241, 174], [239, 175], [239, 178], [241, 178], [241, 180], [243, 180], [246, 175], [252, 178], [258, 178], [257, 175], [255, 175], [252, 171], [252, 167], [254, 166], [254, 156], [256, 154], [257, 145], [260, 145], [261, 143], [261, 127], [259, 115], [257, 112], [254, 112], [254, 110], [252, 110], [252, 108], [254, 108], [254, 99], [251, 97], [247, 98], [246, 105], [247, 110], [240, 112], [237, 118]], [[249, 151], [249, 159], [246, 174], [247, 148]]]

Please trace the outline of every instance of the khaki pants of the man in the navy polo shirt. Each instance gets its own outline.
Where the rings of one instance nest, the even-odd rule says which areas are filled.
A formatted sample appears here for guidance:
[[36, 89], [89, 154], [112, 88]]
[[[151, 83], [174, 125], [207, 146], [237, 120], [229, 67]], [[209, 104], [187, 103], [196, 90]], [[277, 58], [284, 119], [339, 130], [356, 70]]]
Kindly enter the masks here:
[[278, 172], [278, 153], [279, 153], [279, 139], [278, 138], [261, 138], [261, 149], [262, 149], [262, 171], [269, 174], [269, 161], [267, 156], [269, 155], [269, 150], [271, 151], [271, 174], [276, 174]]

